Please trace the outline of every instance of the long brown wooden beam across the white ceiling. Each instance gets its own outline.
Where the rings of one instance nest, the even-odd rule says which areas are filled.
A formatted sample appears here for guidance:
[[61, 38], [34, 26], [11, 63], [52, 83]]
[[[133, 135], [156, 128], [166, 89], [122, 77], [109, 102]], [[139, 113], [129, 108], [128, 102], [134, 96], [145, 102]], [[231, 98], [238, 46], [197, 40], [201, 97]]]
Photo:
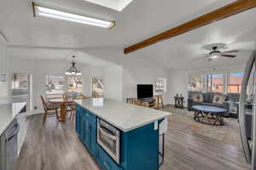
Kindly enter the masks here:
[[214, 21], [223, 20], [224, 18], [227, 18], [231, 15], [238, 14], [250, 8], [255, 8], [255, 7], [256, 7], [256, 0], [237, 0], [234, 3], [230, 3], [222, 8], [213, 10], [210, 13], [201, 15], [200, 17], [194, 20], [190, 20], [189, 22], [186, 22], [175, 28], [172, 28], [171, 30], [162, 32], [142, 42], [138, 42], [137, 44], [132, 45], [129, 48], [125, 48], [124, 53], [129, 54], [131, 52], [137, 51], [138, 49], [146, 48], [154, 43], [157, 43], [172, 37], [176, 37], [177, 35], [183, 34], [188, 31], [192, 31], [201, 26], [207, 26]]

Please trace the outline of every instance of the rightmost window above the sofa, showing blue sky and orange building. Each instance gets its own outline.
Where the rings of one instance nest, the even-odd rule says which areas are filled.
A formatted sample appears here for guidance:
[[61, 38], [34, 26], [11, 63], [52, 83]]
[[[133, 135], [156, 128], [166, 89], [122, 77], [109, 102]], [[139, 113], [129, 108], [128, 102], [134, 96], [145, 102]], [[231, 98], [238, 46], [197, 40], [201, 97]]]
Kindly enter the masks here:
[[228, 75], [228, 93], [239, 94], [241, 92], [241, 82], [243, 73], [231, 73]]

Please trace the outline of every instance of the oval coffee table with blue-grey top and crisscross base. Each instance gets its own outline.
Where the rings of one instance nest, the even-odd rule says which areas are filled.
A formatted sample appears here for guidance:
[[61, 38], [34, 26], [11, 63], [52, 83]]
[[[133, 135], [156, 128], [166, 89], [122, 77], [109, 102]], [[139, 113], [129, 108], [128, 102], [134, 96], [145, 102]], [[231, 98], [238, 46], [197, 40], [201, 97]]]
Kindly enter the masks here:
[[204, 124], [221, 126], [224, 125], [224, 113], [227, 111], [223, 108], [210, 105], [193, 105], [195, 111], [194, 120]]

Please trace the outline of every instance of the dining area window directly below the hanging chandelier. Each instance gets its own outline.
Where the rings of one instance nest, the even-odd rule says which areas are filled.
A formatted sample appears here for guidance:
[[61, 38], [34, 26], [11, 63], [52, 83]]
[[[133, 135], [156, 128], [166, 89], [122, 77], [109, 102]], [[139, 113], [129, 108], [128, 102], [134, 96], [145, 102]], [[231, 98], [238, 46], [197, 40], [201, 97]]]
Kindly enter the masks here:
[[68, 92], [82, 94], [82, 77], [68, 77]]

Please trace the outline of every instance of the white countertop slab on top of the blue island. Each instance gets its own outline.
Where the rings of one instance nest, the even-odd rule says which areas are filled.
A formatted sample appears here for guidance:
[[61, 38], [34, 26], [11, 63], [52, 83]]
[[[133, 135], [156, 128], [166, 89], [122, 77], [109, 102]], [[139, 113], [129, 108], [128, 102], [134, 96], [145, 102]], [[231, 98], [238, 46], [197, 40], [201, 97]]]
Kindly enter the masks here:
[[169, 112], [130, 105], [112, 99], [79, 99], [75, 102], [124, 132], [172, 115]]

